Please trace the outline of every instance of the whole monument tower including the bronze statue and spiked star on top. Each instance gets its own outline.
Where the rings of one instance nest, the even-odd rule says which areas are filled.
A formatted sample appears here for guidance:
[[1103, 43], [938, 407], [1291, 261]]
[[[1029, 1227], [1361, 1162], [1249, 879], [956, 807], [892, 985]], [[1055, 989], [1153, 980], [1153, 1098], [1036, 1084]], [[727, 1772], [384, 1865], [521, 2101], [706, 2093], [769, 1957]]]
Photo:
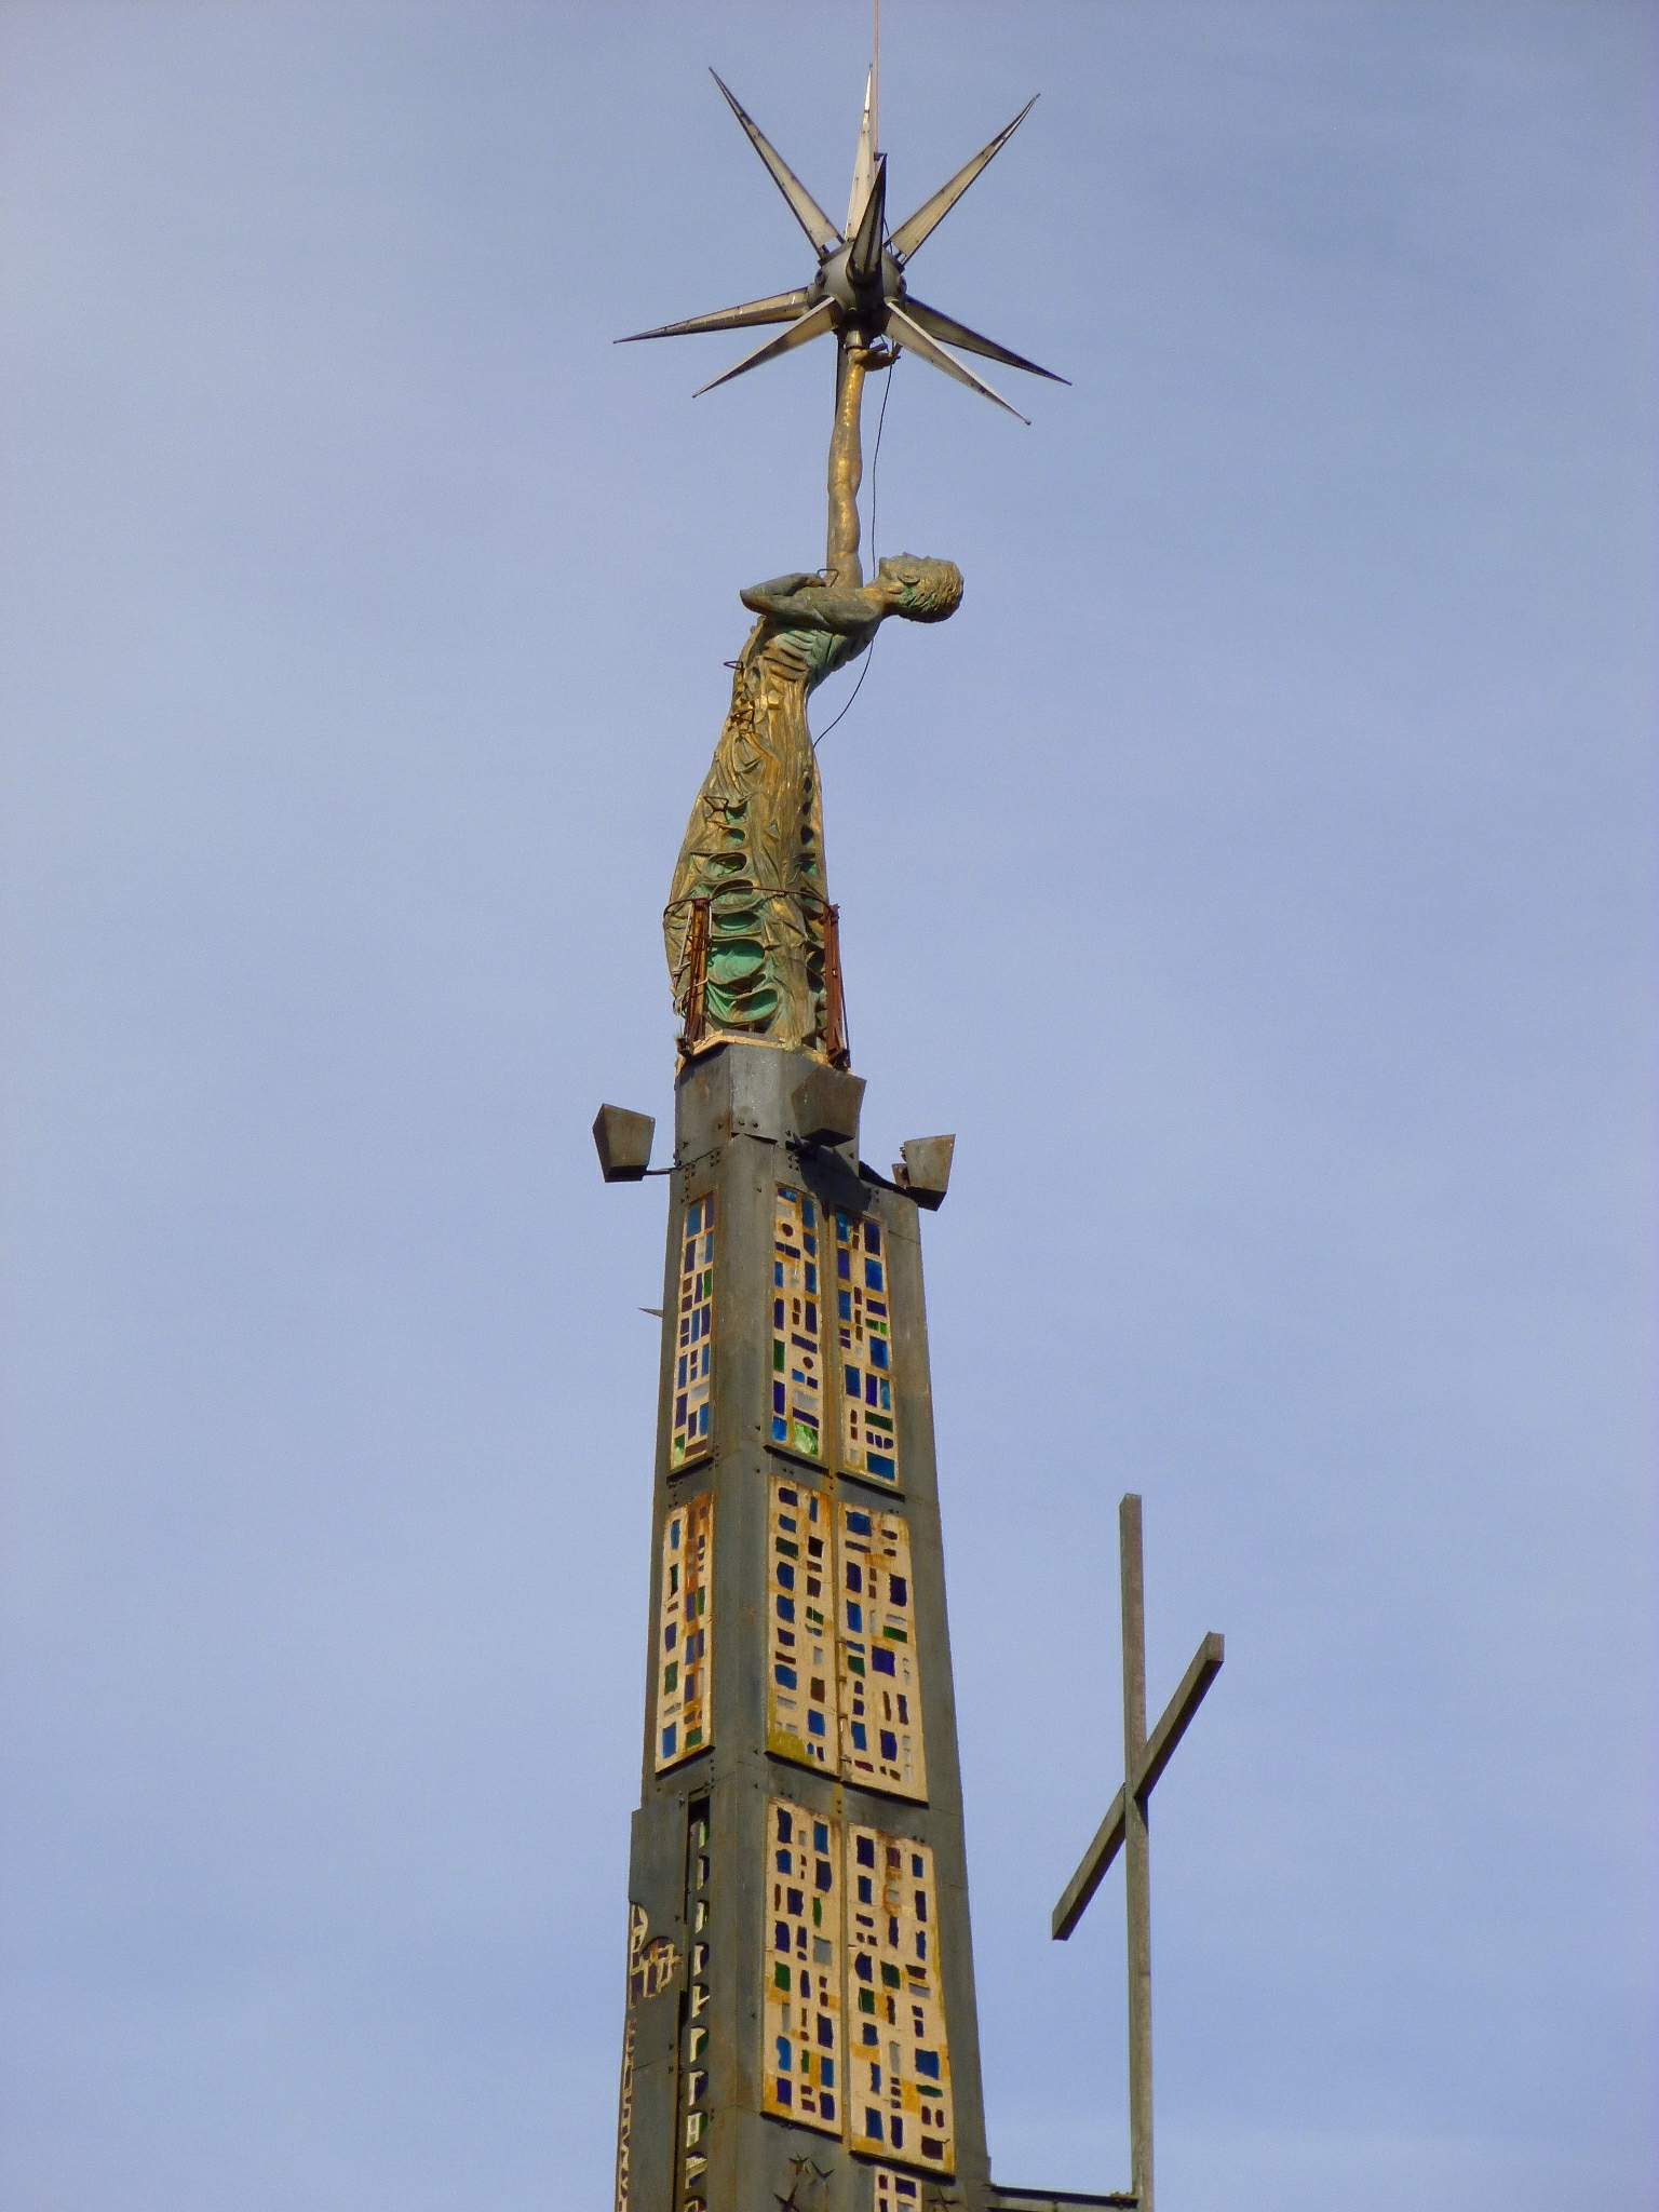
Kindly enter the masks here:
[[[615, 2203], [1053, 2205], [995, 2188], [984, 2141], [918, 1228], [953, 1139], [905, 1144], [891, 1175], [860, 1155], [807, 726], [812, 690], [887, 617], [942, 622], [962, 597], [947, 560], [863, 573], [869, 378], [905, 349], [1006, 407], [947, 345], [1051, 374], [909, 292], [911, 257], [1029, 111], [889, 228], [872, 69], [836, 226], [721, 93], [816, 270], [641, 336], [781, 325], [726, 376], [830, 336], [836, 392], [825, 566], [741, 593], [754, 624], [664, 914], [681, 1035], [672, 1168], [655, 1170], [670, 1206]], [[650, 1135], [602, 1108], [606, 1177], [648, 1172]]]

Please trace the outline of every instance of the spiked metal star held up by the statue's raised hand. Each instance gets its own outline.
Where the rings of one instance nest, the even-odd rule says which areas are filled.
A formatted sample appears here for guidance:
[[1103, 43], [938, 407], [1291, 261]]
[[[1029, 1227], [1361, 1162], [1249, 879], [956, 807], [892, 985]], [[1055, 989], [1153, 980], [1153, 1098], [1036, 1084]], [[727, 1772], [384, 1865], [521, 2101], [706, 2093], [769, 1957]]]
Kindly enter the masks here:
[[949, 184], [942, 184], [938, 192], [925, 199], [898, 230], [889, 230], [887, 155], [876, 150], [876, 71], [872, 69], [865, 84], [865, 111], [858, 124], [858, 155], [852, 168], [847, 226], [845, 230], [836, 230], [783, 155], [761, 133], [754, 117], [739, 106], [732, 91], [721, 84], [712, 69], [710, 75], [721, 93], [726, 93], [732, 115], [737, 115], [750, 144], [761, 161], [765, 161], [772, 181], [790, 204], [790, 212], [812, 241], [818, 268], [812, 281], [794, 292], [772, 292], [768, 299], [750, 299], [741, 307], [717, 307], [712, 314], [692, 314], [684, 323], [637, 330], [633, 336], [619, 338], [617, 345], [633, 345], [639, 338], [684, 338], [703, 330], [752, 330], [761, 323], [787, 325], [781, 336], [768, 338], [765, 345], [759, 345], [737, 367], [726, 369], [723, 376], [714, 376], [701, 387], [701, 392], [712, 392], [714, 385], [726, 385], [734, 376], [759, 369], [761, 363], [776, 361], [781, 354], [790, 354], [799, 345], [807, 345], [812, 338], [823, 338], [832, 332], [838, 343], [854, 345], [874, 345], [885, 338], [894, 352], [907, 347], [929, 367], [953, 376], [969, 392], [978, 392], [982, 398], [1004, 407], [1020, 422], [1029, 422], [1029, 416], [1022, 416], [1018, 407], [1009, 407], [1000, 392], [956, 361], [953, 354], [947, 354], [947, 345], [956, 345], [967, 354], [982, 354], [987, 361], [1002, 361], [1011, 369], [1026, 369], [1031, 376], [1046, 376], [1057, 385], [1068, 383], [1066, 376], [1055, 376], [1053, 369], [1044, 369], [1035, 361], [1026, 361], [1024, 354], [998, 345], [995, 338], [969, 330], [956, 316], [929, 307], [927, 301], [916, 299], [907, 283], [909, 259], [938, 230], [975, 177], [1002, 153], [1035, 106], [1035, 100], [1029, 100], [1006, 131], [998, 131], [991, 144], [982, 146], [971, 161], [958, 168]]

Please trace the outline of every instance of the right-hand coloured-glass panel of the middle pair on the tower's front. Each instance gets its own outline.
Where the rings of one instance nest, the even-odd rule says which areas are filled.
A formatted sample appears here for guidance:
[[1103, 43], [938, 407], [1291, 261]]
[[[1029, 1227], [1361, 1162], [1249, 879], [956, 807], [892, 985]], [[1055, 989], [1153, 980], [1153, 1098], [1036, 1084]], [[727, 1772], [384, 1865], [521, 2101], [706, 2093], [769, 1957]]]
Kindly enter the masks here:
[[909, 1528], [898, 1513], [841, 1506], [836, 1637], [843, 1774], [927, 1798], [922, 1683]]

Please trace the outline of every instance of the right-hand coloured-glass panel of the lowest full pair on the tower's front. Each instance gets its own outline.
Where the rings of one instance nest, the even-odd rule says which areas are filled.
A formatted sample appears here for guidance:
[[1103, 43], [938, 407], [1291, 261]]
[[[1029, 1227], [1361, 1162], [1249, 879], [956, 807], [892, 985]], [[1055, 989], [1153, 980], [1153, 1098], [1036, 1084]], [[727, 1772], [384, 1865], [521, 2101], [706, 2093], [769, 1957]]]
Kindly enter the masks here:
[[949, 2174], [933, 1854], [874, 1827], [847, 1827], [847, 2044], [852, 2148]]

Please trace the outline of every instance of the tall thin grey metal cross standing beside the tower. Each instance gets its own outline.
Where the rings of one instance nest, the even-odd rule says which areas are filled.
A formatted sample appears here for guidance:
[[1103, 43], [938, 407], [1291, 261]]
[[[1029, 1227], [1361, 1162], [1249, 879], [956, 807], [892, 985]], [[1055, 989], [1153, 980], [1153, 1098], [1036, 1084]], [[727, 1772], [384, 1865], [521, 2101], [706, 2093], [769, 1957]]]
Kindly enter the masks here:
[[1124, 1851], [1128, 1909], [1128, 2141], [1130, 2190], [1139, 2212], [1152, 2212], [1152, 1869], [1148, 1798], [1175, 1756], [1203, 1692], [1221, 1672], [1225, 1646], [1214, 1630], [1199, 1644], [1181, 1688], [1146, 1734], [1146, 1575], [1141, 1568], [1141, 1500], [1130, 1491], [1117, 1506], [1124, 1590], [1124, 1787], [1055, 1905], [1053, 1938], [1064, 1942], [1082, 1920], [1102, 1876]]

